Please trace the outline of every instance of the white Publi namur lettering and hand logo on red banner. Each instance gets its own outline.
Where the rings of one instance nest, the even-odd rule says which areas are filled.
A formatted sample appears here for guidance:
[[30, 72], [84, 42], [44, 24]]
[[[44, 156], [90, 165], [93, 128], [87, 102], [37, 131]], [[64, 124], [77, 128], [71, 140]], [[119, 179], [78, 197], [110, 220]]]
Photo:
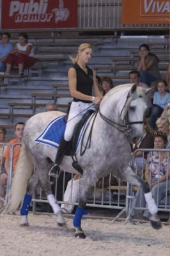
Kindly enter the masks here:
[[49, 0], [40, 0], [36, 2], [30, 0], [29, 3], [21, 3], [20, 1], [11, 1], [10, 17], [15, 17], [15, 22], [51, 22], [55, 20], [56, 24], [59, 21], [65, 21], [70, 15], [68, 8], [64, 8], [64, 1], [59, 0], [59, 6], [52, 8], [47, 12]]

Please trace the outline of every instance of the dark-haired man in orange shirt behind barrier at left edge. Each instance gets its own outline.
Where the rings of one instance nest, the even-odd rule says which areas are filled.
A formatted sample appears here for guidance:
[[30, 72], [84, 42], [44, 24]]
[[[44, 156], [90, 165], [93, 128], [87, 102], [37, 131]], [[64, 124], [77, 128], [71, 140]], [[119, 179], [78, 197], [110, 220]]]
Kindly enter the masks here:
[[[19, 122], [15, 125], [15, 135], [16, 138], [13, 140], [10, 140], [9, 143], [10, 145], [14, 145], [15, 143], [20, 143], [22, 140], [22, 136], [23, 136], [23, 132], [24, 132], [24, 123]], [[17, 163], [17, 159], [19, 157], [19, 152], [20, 152], [20, 145], [17, 145], [14, 147], [13, 149], [13, 162], [12, 162], [12, 171], [15, 170], [15, 166]], [[7, 179], [8, 179], [8, 172], [9, 172], [9, 159], [10, 159], [10, 148], [8, 147], [5, 154], [4, 154], [4, 168], [5, 168], [5, 173], [1, 174], [0, 177], [0, 197], [4, 198], [5, 195], [5, 191], [4, 191], [4, 186], [7, 183]], [[3, 208], [3, 204], [0, 201], [0, 209]]]

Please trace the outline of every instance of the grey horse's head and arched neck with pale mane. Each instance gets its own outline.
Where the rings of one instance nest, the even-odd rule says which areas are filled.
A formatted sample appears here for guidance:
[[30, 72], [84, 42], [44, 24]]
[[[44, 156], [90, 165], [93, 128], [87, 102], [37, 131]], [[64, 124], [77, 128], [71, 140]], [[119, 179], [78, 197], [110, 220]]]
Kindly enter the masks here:
[[123, 84], [109, 91], [100, 104], [100, 116], [110, 125], [128, 134], [132, 143], [143, 137], [146, 97], [151, 89]]

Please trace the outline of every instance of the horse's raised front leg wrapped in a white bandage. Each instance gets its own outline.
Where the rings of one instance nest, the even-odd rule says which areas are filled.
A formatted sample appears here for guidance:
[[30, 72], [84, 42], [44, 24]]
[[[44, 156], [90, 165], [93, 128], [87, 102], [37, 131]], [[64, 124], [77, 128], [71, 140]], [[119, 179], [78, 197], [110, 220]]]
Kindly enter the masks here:
[[150, 186], [148, 182], [142, 180], [137, 175], [135, 175], [135, 173], [133, 172], [130, 166], [128, 166], [128, 169], [126, 170], [126, 172], [123, 173], [123, 177], [125, 177], [127, 182], [134, 184], [136, 186], [139, 186], [141, 189], [143, 189], [144, 198], [148, 205], [148, 210], [150, 211], [150, 214], [151, 214], [151, 217], [150, 217], [151, 226], [155, 229], [161, 228], [160, 218], [158, 217], [158, 214], [157, 214], [158, 208], [151, 194]]

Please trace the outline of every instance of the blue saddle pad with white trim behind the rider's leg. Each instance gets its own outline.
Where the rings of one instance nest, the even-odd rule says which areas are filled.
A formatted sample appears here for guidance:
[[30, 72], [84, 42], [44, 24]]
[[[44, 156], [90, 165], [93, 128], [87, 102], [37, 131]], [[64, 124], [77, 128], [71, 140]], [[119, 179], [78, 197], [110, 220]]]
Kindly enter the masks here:
[[43, 129], [42, 133], [35, 139], [35, 142], [50, 145], [52, 147], [58, 148], [59, 142], [65, 133], [65, 115], [59, 116], [58, 118], [52, 120]]

